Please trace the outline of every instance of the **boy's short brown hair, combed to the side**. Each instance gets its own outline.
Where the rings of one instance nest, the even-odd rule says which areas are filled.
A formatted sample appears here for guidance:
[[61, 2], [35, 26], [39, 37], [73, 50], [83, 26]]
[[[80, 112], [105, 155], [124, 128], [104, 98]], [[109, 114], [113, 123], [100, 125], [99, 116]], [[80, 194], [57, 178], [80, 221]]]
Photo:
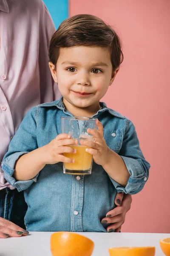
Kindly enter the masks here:
[[110, 47], [113, 70], [123, 61], [118, 35], [111, 26], [93, 15], [75, 15], [60, 24], [51, 38], [49, 47], [49, 58], [55, 67], [59, 57], [59, 48], [72, 46]]

